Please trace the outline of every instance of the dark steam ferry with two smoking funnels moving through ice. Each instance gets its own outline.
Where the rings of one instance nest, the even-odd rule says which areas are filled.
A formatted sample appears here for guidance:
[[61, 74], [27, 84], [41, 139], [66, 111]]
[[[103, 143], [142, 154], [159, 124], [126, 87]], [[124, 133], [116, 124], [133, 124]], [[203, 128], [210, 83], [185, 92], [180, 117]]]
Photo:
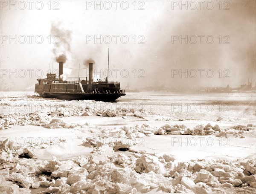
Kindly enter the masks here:
[[[109, 53], [109, 52], [108, 52]], [[89, 80], [64, 81], [62, 78], [64, 62], [59, 62], [59, 76], [47, 73], [47, 78], [37, 79], [35, 93], [44, 98], [58, 98], [61, 100], [95, 100], [115, 101], [125, 96], [125, 90], [120, 89], [120, 82], [97, 79], [93, 81], [93, 63], [89, 63]]]

